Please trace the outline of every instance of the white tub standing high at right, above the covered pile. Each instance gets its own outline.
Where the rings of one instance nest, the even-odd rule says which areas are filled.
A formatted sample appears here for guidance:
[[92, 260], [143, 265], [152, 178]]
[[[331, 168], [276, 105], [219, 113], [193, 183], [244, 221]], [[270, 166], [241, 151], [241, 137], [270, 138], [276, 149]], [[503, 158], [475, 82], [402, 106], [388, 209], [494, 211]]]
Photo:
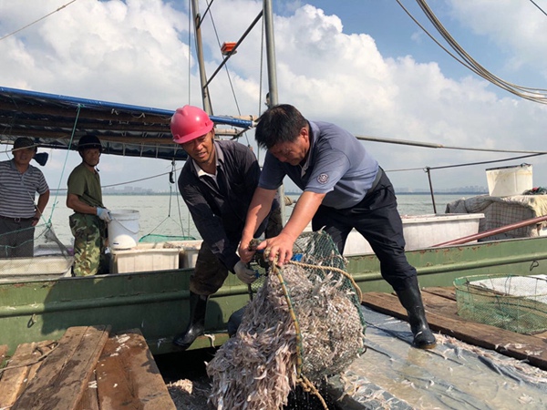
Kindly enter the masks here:
[[532, 165], [486, 169], [490, 197], [511, 197], [532, 190]]

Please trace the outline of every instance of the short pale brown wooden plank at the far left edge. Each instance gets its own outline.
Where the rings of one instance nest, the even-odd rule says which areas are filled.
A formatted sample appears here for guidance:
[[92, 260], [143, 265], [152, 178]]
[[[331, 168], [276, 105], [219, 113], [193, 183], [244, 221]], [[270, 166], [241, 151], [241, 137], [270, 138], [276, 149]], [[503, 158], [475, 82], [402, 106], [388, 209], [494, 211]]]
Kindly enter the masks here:
[[25, 390], [26, 384], [36, 374], [42, 358], [49, 354], [57, 343], [51, 341], [23, 343], [17, 346], [0, 374], [0, 408], [14, 405], [15, 400]]

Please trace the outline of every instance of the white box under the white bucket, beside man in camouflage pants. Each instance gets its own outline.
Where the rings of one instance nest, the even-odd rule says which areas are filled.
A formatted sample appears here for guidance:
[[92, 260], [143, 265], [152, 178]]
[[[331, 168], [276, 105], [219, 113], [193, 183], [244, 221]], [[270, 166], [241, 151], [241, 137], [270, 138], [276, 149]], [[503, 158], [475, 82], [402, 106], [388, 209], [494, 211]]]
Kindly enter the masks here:
[[177, 248], [136, 248], [112, 251], [111, 273], [167, 271], [179, 269]]

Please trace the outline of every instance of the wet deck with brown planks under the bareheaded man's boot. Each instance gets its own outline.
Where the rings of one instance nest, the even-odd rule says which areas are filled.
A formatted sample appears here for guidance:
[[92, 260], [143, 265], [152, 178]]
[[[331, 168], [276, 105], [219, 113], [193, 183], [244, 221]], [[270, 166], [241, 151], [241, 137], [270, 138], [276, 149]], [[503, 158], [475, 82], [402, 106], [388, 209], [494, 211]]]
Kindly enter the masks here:
[[364, 294], [366, 352], [329, 379], [337, 408], [547, 408], [547, 333], [463, 320], [453, 288], [426, 288], [422, 297], [438, 338], [431, 350], [410, 347], [395, 295]]

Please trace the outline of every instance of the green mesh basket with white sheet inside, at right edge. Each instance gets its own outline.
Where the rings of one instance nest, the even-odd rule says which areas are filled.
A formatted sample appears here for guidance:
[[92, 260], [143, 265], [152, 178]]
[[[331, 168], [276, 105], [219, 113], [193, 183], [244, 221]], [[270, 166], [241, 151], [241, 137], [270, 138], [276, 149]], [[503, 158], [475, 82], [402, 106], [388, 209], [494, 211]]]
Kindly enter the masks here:
[[468, 276], [454, 286], [465, 319], [523, 334], [547, 330], [546, 276]]

